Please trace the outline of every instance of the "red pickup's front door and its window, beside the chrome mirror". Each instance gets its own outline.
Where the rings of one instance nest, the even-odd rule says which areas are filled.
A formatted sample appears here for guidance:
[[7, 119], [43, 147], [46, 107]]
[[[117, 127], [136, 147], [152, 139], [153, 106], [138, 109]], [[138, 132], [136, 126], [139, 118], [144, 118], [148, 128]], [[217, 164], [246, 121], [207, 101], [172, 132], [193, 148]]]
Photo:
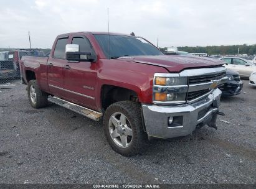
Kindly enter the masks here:
[[[95, 54], [90, 41], [83, 35], [73, 35], [71, 44], [78, 44], [80, 52]], [[95, 101], [97, 62], [67, 62], [63, 73], [65, 96], [69, 101], [97, 109]]]

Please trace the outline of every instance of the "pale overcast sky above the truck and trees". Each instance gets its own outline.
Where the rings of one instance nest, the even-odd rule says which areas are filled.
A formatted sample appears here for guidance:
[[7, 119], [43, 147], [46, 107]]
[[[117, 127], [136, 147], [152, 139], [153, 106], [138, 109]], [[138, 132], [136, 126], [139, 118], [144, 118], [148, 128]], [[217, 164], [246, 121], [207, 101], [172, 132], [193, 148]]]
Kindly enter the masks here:
[[107, 31], [159, 47], [256, 44], [255, 0], [0, 0], [0, 48], [51, 48], [59, 34]]

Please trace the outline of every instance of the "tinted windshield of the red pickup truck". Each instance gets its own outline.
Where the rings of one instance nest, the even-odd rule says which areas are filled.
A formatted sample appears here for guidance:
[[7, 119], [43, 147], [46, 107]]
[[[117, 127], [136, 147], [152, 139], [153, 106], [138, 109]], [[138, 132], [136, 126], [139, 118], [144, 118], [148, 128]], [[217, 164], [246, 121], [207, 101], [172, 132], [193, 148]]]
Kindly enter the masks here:
[[[108, 58], [118, 58], [123, 56], [136, 55], [163, 55], [163, 53], [153, 45], [149, 44], [141, 37], [127, 35], [94, 35], [104, 54]], [[109, 37], [109, 38], [108, 38]], [[108, 42], [109, 46], [108, 46]], [[109, 52], [108, 52], [109, 47]]]

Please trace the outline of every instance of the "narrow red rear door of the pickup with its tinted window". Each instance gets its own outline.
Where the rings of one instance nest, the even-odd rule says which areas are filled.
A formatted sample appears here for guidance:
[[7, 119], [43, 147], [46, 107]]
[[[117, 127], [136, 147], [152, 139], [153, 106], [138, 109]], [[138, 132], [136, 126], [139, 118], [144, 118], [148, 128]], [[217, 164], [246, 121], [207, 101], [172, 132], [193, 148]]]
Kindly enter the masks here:
[[47, 62], [47, 79], [50, 93], [60, 97], [65, 95], [62, 69], [67, 64], [67, 60], [65, 60], [65, 46], [68, 41], [68, 36], [57, 39], [54, 52]]

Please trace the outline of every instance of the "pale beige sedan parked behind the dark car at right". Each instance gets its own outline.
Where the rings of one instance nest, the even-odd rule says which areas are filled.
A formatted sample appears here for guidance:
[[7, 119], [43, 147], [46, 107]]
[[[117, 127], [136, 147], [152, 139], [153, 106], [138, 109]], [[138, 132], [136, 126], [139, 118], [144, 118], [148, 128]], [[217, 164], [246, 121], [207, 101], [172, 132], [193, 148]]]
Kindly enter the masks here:
[[250, 74], [253, 71], [256, 71], [256, 66], [249, 62], [249, 60], [245, 60], [244, 58], [239, 57], [224, 57], [220, 58], [220, 60], [225, 61], [225, 67], [238, 71], [241, 78], [249, 78]]

